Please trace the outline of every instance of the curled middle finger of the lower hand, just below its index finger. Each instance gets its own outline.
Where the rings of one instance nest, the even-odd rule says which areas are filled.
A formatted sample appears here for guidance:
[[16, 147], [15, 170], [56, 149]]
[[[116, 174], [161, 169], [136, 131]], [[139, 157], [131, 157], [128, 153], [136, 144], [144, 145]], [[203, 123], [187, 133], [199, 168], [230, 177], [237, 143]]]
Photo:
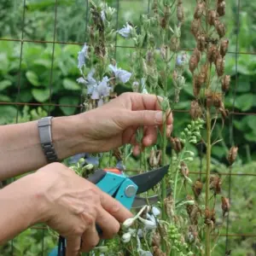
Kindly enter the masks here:
[[119, 222], [113, 218], [107, 211], [102, 209], [96, 218], [96, 224], [100, 226], [102, 229], [102, 238], [103, 239], [111, 239], [115, 234], [118, 233], [120, 224]]

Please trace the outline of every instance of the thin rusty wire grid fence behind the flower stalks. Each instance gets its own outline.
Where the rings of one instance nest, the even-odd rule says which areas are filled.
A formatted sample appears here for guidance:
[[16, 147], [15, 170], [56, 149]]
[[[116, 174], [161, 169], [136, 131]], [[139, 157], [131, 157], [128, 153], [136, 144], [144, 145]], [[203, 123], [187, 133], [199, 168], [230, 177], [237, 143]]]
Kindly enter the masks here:
[[[15, 0], [12, 0], [15, 1]], [[235, 1], [235, 0], [234, 0]], [[54, 3], [54, 12], [53, 12], [53, 16], [52, 16], [52, 22], [53, 22], [53, 26], [52, 26], [52, 32], [53, 32], [53, 38], [50, 40], [42, 40], [42, 39], [31, 39], [31, 38], [26, 38], [26, 33], [25, 33], [25, 29], [26, 29], [26, 0], [23, 0], [23, 9], [22, 9], [22, 22], [21, 22], [21, 29], [20, 29], [20, 37], [17, 36], [17, 38], [0, 38], [0, 42], [13, 42], [15, 44], [20, 44], [20, 56], [19, 56], [19, 72], [17, 73], [17, 81], [16, 81], [16, 100], [15, 102], [7, 102], [7, 101], [0, 101], [0, 107], [1, 106], [15, 106], [16, 107], [16, 123], [19, 123], [19, 110], [21, 107], [23, 106], [32, 106], [32, 107], [47, 107], [48, 108], [48, 115], [50, 115], [51, 113], [51, 107], [58, 107], [58, 108], [77, 108], [80, 109], [81, 105], [80, 103], [82, 103], [82, 98], [79, 95], [75, 95], [79, 97], [79, 104], [61, 104], [61, 103], [57, 103], [55, 102], [55, 99], [52, 98], [52, 91], [53, 91], [53, 78], [55, 76], [54, 73], [54, 61], [55, 61], [55, 46], [56, 44], [59, 45], [79, 45], [82, 46], [84, 44], [84, 42], [86, 41], [86, 34], [87, 34], [87, 22], [89, 19], [89, 0], [84, 0], [84, 5], [86, 6], [86, 10], [84, 12], [84, 40], [81, 42], [63, 42], [63, 41], [59, 41], [57, 38], [57, 26], [58, 24], [58, 5], [59, 3], [62, 1], [58, 1], [55, 0]], [[73, 0], [73, 3], [75, 3], [76, 0]], [[116, 12], [116, 29], [120, 28], [121, 26], [123, 26], [123, 24], [119, 23], [119, 12], [120, 9], [122, 8], [122, 3], [127, 2], [125, 0], [115, 0], [112, 1], [112, 5], [113, 7], [115, 7], [117, 9]], [[142, 0], [143, 2], [143, 0]], [[146, 0], [144, 1], [146, 2]], [[152, 0], [147, 0], [147, 4], [145, 4], [146, 9], [145, 9], [145, 13], [147, 13], [150, 9], [150, 5], [151, 5]], [[186, 1], [184, 1], [184, 4]], [[230, 2], [230, 1], [229, 1]], [[132, 4], [132, 1], [131, 1]], [[229, 3], [227, 3], [227, 8], [229, 8]], [[253, 51], [241, 51], [239, 52], [239, 33], [240, 33], [240, 11], [241, 11], [241, 1], [240, 0], [236, 0], [236, 17], [234, 17], [234, 19], [236, 19], [236, 49], [235, 50], [230, 50], [228, 52], [228, 54], [230, 55], [235, 55], [235, 59], [236, 59], [236, 64], [235, 64], [235, 73], [236, 73], [236, 84], [233, 88], [231, 88], [230, 90], [232, 90], [232, 95], [233, 95], [233, 100], [232, 100], [232, 108], [230, 109], [230, 146], [236, 144], [236, 137], [234, 137], [234, 133], [233, 133], [233, 123], [234, 123], [234, 118], [239, 115], [248, 115], [248, 116], [253, 116], [256, 115], [256, 113], [243, 113], [243, 112], [237, 112], [235, 111], [235, 103], [236, 103], [236, 89], [238, 87], [238, 83], [239, 83], [239, 78], [238, 78], [238, 59], [239, 59], [239, 55], [256, 55], [256, 52]], [[67, 17], [68, 19], [68, 17]], [[228, 20], [225, 20], [225, 22], [229, 22]], [[51, 53], [51, 64], [50, 64], [50, 69], [49, 69], [49, 86], [48, 86], [48, 93], [49, 93], [49, 99], [48, 102], [44, 102], [44, 103], [40, 103], [40, 102], [22, 102], [20, 100], [20, 92], [22, 91], [22, 80], [21, 80], [21, 74], [22, 74], [22, 60], [23, 60], [23, 55], [24, 55], [24, 45], [25, 44], [49, 44], [52, 45], [52, 53]], [[29, 45], [28, 45], [29, 47]], [[115, 40], [115, 49], [117, 52], [117, 50], [119, 49], [132, 49], [132, 46], [122, 46], [118, 44], [118, 40], [116, 38]], [[180, 50], [184, 50], [184, 51], [192, 51], [193, 49], [180, 49]], [[4, 49], [1, 49], [1, 51], [4, 51]], [[36, 57], [36, 56], [35, 56]], [[1, 93], [2, 94], [2, 93]], [[175, 119], [175, 114], [177, 113], [189, 113], [189, 110], [183, 110], [183, 109], [176, 109], [173, 111], [174, 112], [174, 119]], [[202, 148], [201, 148], [202, 150]], [[205, 172], [203, 172], [203, 166], [201, 163], [201, 167], [200, 167], [200, 171], [199, 172], [191, 172], [192, 175], [202, 175], [205, 174]], [[223, 176], [228, 177], [228, 194], [229, 194], [229, 198], [232, 200], [231, 198], [231, 190], [232, 190], [232, 182], [233, 182], [233, 178], [234, 177], [239, 177], [239, 178], [243, 178], [246, 176], [251, 176], [251, 177], [256, 177], [255, 173], [232, 173], [230, 172], [222, 172], [220, 173]], [[15, 180], [15, 179], [14, 179]], [[47, 255], [46, 252], [46, 245], [44, 242], [44, 236], [46, 234], [46, 232], [48, 232], [48, 230], [46, 229], [45, 226], [34, 226], [32, 227], [32, 229], [35, 230], [42, 230], [42, 248], [41, 248], [41, 255]], [[224, 236], [225, 237], [225, 251], [228, 251], [229, 249], [231, 249], [229, 247], [229, 243], [230, 243], [230, 239], [236, 239], [237, 237], [255, 237], [256, 240], [256, 233], [255, 234], [248, 234], [247, 230], [242, 230], [242, 232], [240, 233], [230, 233], [230, 215], [228, 215], [228, 218], [226, 220], [226, 230], [225, 232], [221, 233], [220, 236]], [[15, 240], [13, 240], [11, 242], [11, 255], [16, 255], [15, 254]], [[20, 254], [19, 254], [20, 255]], [[255, 254], [256, 255], [256, 254]]]

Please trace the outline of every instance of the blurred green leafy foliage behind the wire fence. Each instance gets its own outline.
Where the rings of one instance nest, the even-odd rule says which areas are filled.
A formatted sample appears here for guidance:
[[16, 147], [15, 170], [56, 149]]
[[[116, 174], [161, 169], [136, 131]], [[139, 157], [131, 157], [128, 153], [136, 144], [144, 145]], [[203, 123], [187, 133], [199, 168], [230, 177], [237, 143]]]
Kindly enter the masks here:
[[[106, 1], [117, 8], [117, 1]], [[183, 1], [186, 21], [182, 31], [182, 47], [192, 49], [195, 40], [189, 32], [192, 19], [191, 10], [195, 1]], [[256, 55], [238, 55], [236, 70], [236, 43], [240, 52], [256, 52], [255, 34], [256, 3], [249, 0], [241, 1], [239, 26], [237, 26], [237, 0], [227, 1], [227, 26], [226, 37], [230, 39], [230, 54], [227, 55], [225, 70], [231, 75], [230, 92], [226, 96], [226, 108], [232, 110], [235, 88], [235, 111], [241, 113], [256, 113]], [[147, 13], [148, 0], [120, 0], [117, 28], [131, 20], [134, 25], [140, 19], [140, 14]], [[55, 0], [27, 0], [25, 7], [25, 22], [22, 49], [22, 61], [20, 63], [20, 42], [0, 41], [0, 102], [28, 102], [28, 103], [56, 103], [64, 105], [79, 105], [82, 88], [76, 83], [79, 78], [77, 68], [77, 54], [84, 42], [86, 42], [86, 15], [87, 4], [84, 0], [59, 0], [57, 8], [57, 23], [55, 41], [69, 42], [70, 44], [46, 44], [38, 41], [53, 41], [55, 31]], [[23, 1], [0, 0], [0, 38], [20, 39], [23, 25]], [[236, 33], [239, 37], [236, 42]], [[80, 43], [75, 45], [73, 43]], [[118, 38], [116, 59], [119, 67], [129, 70], [130, 64], [126, 60], [132, 49], [125, 39]], [[54, 48], [54, 58], [52, 59]], [[189, 54], [189, 52], [188, 52]], [[21, 67], [21, 70], [20, 70]], [[19, 73], [19, 70], [21, 71]], [[52, 73], [51, 73], [52, 70]], [[186, 88], [181, 94], [181, 101], [177, 108], [189, 109], [193, 98], [191, 74], [186, 73]], [[131, 84], [130, 84], [131, 85]], [[18, 90], [20, 88], [20, 94]], [[118, 86], [118, 92], [131, 90], [131, 86]], [[51, 90], [51, 97], [49, 96]], [[170, 81], [172, 90], [172, 81]], [[79, 108], [72, 107], [16, 107], [15, 105], [0, 105], [0, 125], [29, 119], [38, 119], [50, 113], [54, 116], [79, 113]], [[173, 134], [178, 134], [189, 122], [189, 114], [175, 113], [175, 128]], [[234, 141], [239, 147], [240, 161], [234, 172], [255, 173], [256, 164], [256, 115], [234, 115]], [[220, 129], [220, 124], [218, 125]], [[233, 143], [232, 126], [230, 120], [226, 121], [223, 143], [212, 148], [213, 160], [217, 164], [212, 165], [212, 170], [227, 172], [224, 164], [225, 156]], [[193, 148], [192, 148], [193, 149]], [[195, 149], [195, 148], [194, 148]], [[196, 151], [195, 151], [196, 153]], [[223, 164], [220, 165], [219, 163]], [[243, 164], [243, 166], [241, 166]], [[190, 171], [198, 171], [199, 163], [189, 166]], [[203, 165], [204, 166], [204, 165]], [[232, 177], [231, 195], [233, 200], [230, 212], [230, 233], [256, 233], [255, 214], [255, 178], [256, 177]], [[224, 183], [224, 189], [228, 191], [228, 177]], [[44, 255], [53, 247], [54, 241], [47, 230], [26, 230], [15, 238], [14, 255], [39, 255], [42, 250], [42, 235], [44, 238]], [[232, 255], [256, 255], [255, 237], [231, 238]], [[1, 255], [11, 254], [10, 243], [0, 247]], [[224, 255], [224, 237], [220, 238], [219, 246], [214, 255]]]

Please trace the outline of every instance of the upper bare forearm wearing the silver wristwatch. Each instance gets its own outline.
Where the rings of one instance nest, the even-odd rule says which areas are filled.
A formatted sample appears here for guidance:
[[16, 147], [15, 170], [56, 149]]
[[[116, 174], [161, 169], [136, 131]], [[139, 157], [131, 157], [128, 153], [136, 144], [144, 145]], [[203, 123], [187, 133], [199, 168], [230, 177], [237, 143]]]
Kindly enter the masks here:
[[[80, 115], [52, 119], [52, 140], [60, 160], [82, 153], [81, 131], [85, 126]], [[0, 180], [35, 171], [46, 164], [38, 121], [0, 126]]]

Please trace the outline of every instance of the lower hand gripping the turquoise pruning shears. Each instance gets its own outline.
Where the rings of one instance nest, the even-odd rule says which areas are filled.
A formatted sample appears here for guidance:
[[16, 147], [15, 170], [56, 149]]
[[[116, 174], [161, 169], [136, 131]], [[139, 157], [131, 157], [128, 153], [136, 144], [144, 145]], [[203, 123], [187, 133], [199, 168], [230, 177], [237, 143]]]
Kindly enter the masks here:
[[96, 224], [103, 231], [101, 238], [110, 239], [119, 231], [119, 223], [132, 217], [119, 201], [67, 166], [53, 163], [39, 169], [35, 176], [40, 186], [45, 184], [41, 220], [67, 239], [66, 256], [96, 247], [100, 240]]

